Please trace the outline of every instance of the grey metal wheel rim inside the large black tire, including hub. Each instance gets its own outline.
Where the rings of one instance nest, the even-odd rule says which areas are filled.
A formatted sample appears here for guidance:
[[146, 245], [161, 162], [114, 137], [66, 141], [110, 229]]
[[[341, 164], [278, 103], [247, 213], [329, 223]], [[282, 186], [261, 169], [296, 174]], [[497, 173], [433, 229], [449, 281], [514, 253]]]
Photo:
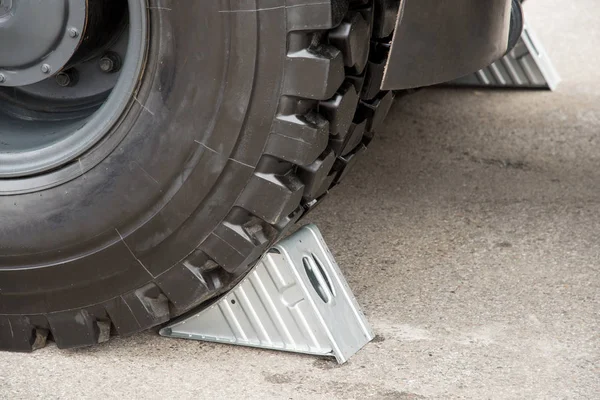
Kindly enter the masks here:
[[0, 179], [77, 162], [126, 110], [144, 67], [147, 7], [120, 1], [44, 1], [51, 17], [33, 34], [45, 39], [20, 51], [15, 38], [41, 3], [0, 0]]

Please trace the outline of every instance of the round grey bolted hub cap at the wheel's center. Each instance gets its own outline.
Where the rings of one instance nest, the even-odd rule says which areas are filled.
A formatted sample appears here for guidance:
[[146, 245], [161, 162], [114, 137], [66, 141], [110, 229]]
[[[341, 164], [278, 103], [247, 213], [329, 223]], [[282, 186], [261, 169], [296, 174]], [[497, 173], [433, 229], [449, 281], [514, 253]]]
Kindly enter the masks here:
[[86, 20], [86, 0], [0, 0], [0, 86], [30, 85], [64, 68]]

